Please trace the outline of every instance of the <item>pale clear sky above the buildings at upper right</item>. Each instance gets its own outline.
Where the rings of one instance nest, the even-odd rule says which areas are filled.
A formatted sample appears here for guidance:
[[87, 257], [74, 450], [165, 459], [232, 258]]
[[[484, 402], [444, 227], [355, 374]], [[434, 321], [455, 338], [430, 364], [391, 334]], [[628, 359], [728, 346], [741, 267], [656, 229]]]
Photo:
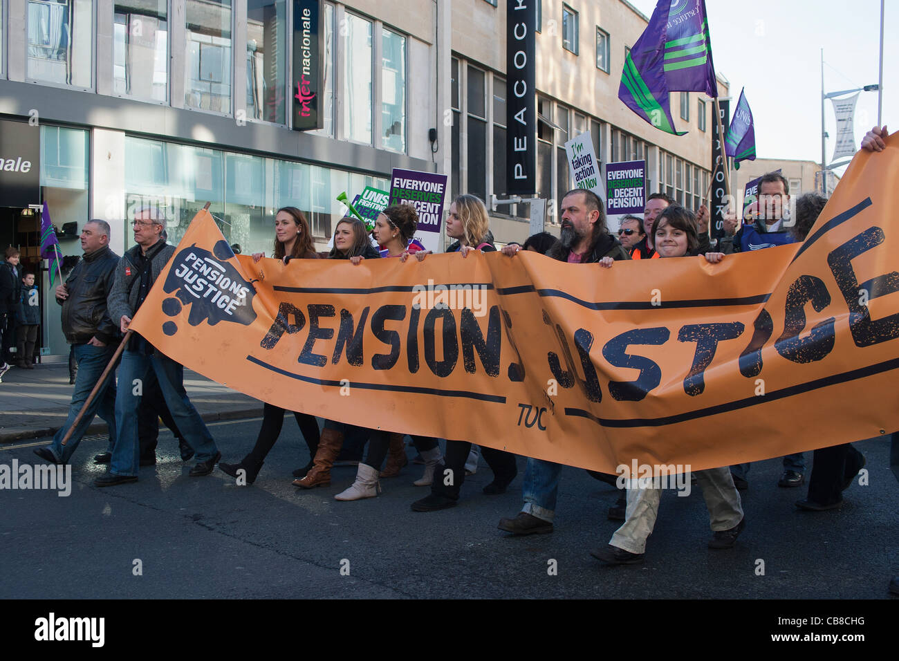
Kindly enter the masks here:
[[[656, 4], [629, 2], [646, 16]], [[706, 8], [716, 72], [730, 81], [732, 109], [745, 87], [758, 156], [820, 163], [821, 49], [826, 93], [877, 84], [880, 0], [706, 0]], [[886, 0], [882, 123], [891, 132], [899, 130], [897, 69], [899, 0]], [[832, 102], [825, 103], [830, 163], [836, 121]], [[862, 92], [855, 114], [857, 146], [876, 123], [877, 92]]]

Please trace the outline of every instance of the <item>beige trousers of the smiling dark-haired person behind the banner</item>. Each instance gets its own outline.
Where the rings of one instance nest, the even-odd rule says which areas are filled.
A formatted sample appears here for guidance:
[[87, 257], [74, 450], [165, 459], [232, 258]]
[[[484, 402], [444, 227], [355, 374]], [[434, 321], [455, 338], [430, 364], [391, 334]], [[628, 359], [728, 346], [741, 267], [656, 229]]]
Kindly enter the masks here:
[[[706, 499], [708, 523], [713, 531], [728, 531], [743, 521], [740, 493], [734, 487], [730, 470], [697, 470], [693, 475], [702, 488], [702, 497]], [[615, 531], [609, 543], [629, 553], [644, 553], [646, 538], [655, 527], [661, 498], [662, 489], [628, 489], [625, 522]]]

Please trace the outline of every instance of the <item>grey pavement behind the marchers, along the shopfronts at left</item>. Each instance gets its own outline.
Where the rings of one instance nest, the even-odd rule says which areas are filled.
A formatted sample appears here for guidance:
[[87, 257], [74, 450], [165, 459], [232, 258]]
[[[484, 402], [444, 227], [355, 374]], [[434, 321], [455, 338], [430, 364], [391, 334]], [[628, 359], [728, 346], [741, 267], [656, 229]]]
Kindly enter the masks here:
[[[0, 383], [0, 443], [50, 436], [66, 422], [72, 389], [66, 363], [13, 367]], [[263, 403], [184, 370], [184, 389], [203, 420], [229, 420], [263, 415]], [[87, 433], [106, 433], [106, 423], [93, 419]]]

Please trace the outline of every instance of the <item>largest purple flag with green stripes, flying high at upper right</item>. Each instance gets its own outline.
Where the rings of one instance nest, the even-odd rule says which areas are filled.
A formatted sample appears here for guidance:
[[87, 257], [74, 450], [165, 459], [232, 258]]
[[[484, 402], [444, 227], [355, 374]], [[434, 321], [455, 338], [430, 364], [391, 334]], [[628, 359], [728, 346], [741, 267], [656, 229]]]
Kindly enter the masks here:
[[619, 99], [656, 129], [674, 129], [670, 92], [717, 97], [706, 0], [659, 0], [649, 25], [625, 58]]

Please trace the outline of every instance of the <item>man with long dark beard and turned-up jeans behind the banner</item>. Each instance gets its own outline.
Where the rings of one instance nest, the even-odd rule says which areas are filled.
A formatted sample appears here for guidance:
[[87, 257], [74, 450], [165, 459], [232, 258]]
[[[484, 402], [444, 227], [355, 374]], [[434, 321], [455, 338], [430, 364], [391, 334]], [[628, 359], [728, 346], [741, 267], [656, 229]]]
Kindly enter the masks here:
[[[521, 246], [503, 246], [503, 254], [510, 257], [520, 250]], [[562, 199], [559, 242], [547, 255], [568, 264], [595, 264], [606, 258], [629, 259], [628, 251], [609, 234], [605, 205], [599, 196], [580, 188], [565, 193]], [[528, 459], [522, 486], [524, 506], [513, 519], [501, 519], [498, 528], [515, 535], [552, 532], [561, 474], [562, 464]], [[599, 475], [593, 477], [602, 479]], [[614, 477], [609, 478], [614, 484]]]

